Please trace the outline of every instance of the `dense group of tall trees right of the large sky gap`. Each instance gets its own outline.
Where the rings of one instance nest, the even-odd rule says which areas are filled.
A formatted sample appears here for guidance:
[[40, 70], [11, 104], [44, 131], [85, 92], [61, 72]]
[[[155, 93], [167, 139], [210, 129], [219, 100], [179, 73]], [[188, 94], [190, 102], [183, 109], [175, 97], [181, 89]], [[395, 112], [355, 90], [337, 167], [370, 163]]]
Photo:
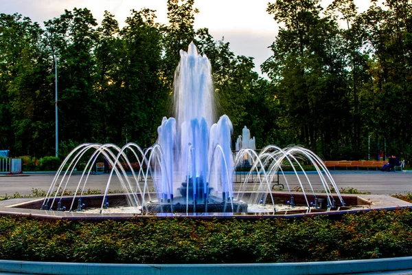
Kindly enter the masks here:
[[366, 157], [368, 137], [371, 157], [385, 141], [411, 155], [411, 1], [371, 2], [362, 14], [352, 0], [268, 5], [282, 28], [262, 68], [288, 133], [325, 157]]

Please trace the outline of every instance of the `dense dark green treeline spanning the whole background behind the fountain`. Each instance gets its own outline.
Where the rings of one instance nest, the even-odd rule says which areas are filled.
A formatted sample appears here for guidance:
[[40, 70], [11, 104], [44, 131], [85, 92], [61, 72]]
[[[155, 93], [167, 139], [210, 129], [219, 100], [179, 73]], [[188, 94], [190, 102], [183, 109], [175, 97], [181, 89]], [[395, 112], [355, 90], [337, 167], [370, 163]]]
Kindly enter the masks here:
[[[132, 10], [120, 29], [87, 9], [65, 10], [44, 28], [20, 14], [0, 14], [0, 149], [54, 155], [54, 64], [58, 64], [59, 149], [126, 140], [149, 146], [172, 115], [179, 50], [194, 41], [212, 65], [218, 114], [234, 136], [247, 125], [258, 147], [302, 144], [325, 159], [412, 155], [412, 4], [352, 0], [277, 0], [281, 26], [262, 64], [236, 56], [207, 28], [195, 30], [194, 0], [168, 0], [168, 25], [153, 10]], [[55, 60], [54, 58], [57, 58]], [[370, 140], [370, 150], [368, 149]]]

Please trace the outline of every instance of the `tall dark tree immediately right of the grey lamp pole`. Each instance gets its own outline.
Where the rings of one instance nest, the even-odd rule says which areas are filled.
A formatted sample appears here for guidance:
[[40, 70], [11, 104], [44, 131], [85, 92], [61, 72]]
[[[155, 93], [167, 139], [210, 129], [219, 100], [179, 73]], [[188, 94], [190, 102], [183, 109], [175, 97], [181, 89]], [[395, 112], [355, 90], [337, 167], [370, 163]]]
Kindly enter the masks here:
[[59, 18], [45, 22], [49, 55], [58, 58], [60, 140], [98, 140], [93, 131], [100, 122], [95, 115], [99, 98], [93, 89], [96, 25], [86, 8], [65, 10]]

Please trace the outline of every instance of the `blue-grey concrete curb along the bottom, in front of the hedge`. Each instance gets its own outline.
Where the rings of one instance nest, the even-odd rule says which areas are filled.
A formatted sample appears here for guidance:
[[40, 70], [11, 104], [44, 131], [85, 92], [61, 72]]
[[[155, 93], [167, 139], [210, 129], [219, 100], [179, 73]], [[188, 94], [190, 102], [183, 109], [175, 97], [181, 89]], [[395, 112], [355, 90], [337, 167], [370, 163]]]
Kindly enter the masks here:
[[147, 265], [115, 263], [51, 263], [0, 260], [0, 274], [56, 274], [56, 275], [250, 275], [250, 274], [350, 274], [388, 272], [412, 269], [412, 256], [388, 259], [327, 261], [308, 263], [238, 263]]

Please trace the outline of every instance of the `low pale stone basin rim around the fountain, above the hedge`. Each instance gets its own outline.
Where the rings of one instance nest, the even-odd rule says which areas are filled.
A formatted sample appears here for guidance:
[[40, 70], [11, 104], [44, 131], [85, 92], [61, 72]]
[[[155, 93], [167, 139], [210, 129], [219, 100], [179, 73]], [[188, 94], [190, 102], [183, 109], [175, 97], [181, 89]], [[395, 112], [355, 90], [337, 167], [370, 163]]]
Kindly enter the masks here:
[[[253, 192], [247, 192], [245, 195], [253, 195]], [[275, 197], [275, 203], [285, 204], [286, 199], [290, 198], [290, 194], [286, 192], [273, 192]], [[301, 193], [293, 193], [295, 197], [296, 206], [299, 206], [299, 201], [304, 201], [304, 195]], [[325, 194], [317, 194], [317, 197], [325, 197]], [[269, 196], [266, 196], [269, 197]], [[109, 202], [109, 208], [117, 206], [127, 206], [126, 194], [110, 194], [107, 195]], [[73, 197], [63, 197], [61, 201], [61, 207], [66, 206], [68, 209], [71, 205]], [[82, 203], [87, 208], [100, 208], [102, 206], [102, 195], [88, 195], [82, 197]], [[0, 215], [19, 215], [36, 217], [40, 219], [70, 219], [70, 220], [129, 220], [129, 219], [147, 219], [150, 217], [170, 218], [170, 217], [185, 217], [194, 218], [202, 217], [202, 219], [262, 219], [262, 218], [299, 218], [308, 215], [343, 215], [348, 212], [368, 211], [374, 209], [395, 209], [400, 207], [410, 207], [412, 203], [407, 203], [400, 199], [396, 199], [390, 196], [382, 195], [367, 195], [367, 197], [361, 197], [359, 195], [343, 195], [345, 199], [345, 207], [337, 206], [336, 208], [328, 209], [315, 209], [310, 208], [293, 208], [285, 206], [287, 210], [277, 212], [173, 212], [173, 213], [157, 213], [146, 214], [144, 212], [137, 213], [113, 213], [105, 212], [103, 209], [102, 214], [90, 213], [85, 211], [57, 211], [57, 204], [54, 206], [54, 210], [40, 210], [44, 199], [9, 199], [6, 201], [0, 201]], [[77, 202], [77, 199], [76, 201]], [[75, 203], [76, 204], [76, 203]], [[77, 204], [76, 204], [77, 206]], [[275, 205], [276, 206], [276, 205]]]

